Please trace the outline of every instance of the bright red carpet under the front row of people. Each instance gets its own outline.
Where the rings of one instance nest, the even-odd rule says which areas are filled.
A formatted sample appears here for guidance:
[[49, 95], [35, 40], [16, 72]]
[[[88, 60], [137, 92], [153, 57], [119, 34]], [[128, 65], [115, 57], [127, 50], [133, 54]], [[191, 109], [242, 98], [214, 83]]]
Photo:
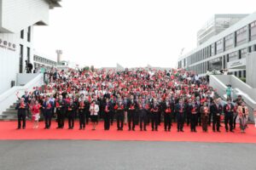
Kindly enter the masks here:
[[256, 128], [248, 125], [247, 133], [240, 133], [237, 128], [235, 133], [224, 132], [213, 133], [209, 127], [208, 133], [203, 133], [201, 127], [197, 127], [197, 133], [190, 133], [189, 127], [185, 126], [184, 133], [177, 133], [176, 124], [172, 126], [172, 132], [165, 132], [163, 124], [158, 132], [152, 132], [148, 127], [147, 132], [128, 131], [125, 126], [124, 131], [117, 131], [116, 124], [110, 127], [109, 131], [103, 130], [103, 122], [99, 122], [96, 131], [92, 131], [91, 124], [86, 125], [85, 130], [79, 130], [79, 122], [75, 122], [73, 130], [56, 129], [56, 122], [53, 122], [51, 129], [44, 129], [44, 122], [39, 122], [38, 129], [32, 129], [32, 122], [27, 122], [26, 129], [16, 130], [17, 122], [0, 122], [0, 139], [95, 139], [95, 140], [142, 140], [142, 141], [185, 141], [185, 142], [213, 142], [213, 143], [256, 143]]

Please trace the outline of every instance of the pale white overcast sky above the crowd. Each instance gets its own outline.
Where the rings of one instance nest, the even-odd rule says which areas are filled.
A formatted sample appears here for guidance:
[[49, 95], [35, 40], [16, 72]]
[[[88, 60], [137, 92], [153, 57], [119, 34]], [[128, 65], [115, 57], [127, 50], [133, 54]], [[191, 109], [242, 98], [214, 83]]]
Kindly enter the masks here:
[[34, 48], [79, 65], [173, 67], [196, 47], [213, 14], [251, 14], [255, 0], [62, 0], [49, 26], [36, 26]]

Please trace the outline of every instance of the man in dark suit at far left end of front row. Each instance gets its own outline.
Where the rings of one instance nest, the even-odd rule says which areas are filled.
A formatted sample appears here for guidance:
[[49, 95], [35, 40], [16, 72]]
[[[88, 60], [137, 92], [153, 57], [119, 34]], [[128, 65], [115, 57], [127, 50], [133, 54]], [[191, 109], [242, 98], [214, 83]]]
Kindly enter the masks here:
[[26, 128], [26, 110], [28, 109], [28, 105], [25, 102], [24, 98], [20, 99], [20, 103], [16, 105], [15, 110], [18, 110], [18, 127], [21, 127], [21, 120], [22, 120], [22, 128]]

